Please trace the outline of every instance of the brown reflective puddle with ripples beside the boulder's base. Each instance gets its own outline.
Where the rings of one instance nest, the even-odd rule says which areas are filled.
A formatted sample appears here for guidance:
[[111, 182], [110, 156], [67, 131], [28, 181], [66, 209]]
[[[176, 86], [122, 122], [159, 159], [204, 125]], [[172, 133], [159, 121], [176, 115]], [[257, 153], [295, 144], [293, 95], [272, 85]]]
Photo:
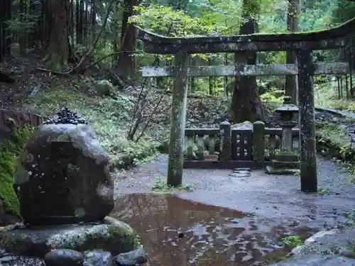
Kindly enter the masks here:
[[123, 196], [111, 216], [141, 235], [148, 265], [267, 265], [290, 251], [281, 238], [317, 231], [159, 194]]

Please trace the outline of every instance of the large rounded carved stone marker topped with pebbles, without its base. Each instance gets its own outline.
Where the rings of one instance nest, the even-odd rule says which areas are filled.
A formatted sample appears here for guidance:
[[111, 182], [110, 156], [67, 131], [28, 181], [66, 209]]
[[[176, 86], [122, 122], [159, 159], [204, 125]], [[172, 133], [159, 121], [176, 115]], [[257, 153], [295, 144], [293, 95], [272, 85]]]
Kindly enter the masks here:
[[114, 208], [108, 156], [68, 109], [40, 126], [16, 165], [21, 216], [31, 225], [99, 221]]

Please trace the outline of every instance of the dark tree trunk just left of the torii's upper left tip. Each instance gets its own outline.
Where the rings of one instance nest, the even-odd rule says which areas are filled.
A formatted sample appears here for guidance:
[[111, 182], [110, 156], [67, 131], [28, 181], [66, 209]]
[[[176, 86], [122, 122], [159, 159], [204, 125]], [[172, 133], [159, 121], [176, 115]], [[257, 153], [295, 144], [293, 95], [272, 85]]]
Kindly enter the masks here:
[[124, 81], [129, 81], [134, 74], [133, 51], [136, 48], [136, 29], [129, 23], [129, 17], [133, 15], [133, 6], [137, 6], [139, 0], [125, 0], [124, 13], [122, 15], [121, 46], [117, 68]]

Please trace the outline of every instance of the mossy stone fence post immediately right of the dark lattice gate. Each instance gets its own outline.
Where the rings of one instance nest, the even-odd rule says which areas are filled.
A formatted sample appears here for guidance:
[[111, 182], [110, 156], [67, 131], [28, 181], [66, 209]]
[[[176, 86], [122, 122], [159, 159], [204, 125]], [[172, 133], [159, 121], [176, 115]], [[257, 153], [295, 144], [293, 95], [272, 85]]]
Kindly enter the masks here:
[[253, 123], [253, 161], [260, 167], [265, 162], [265, 124], [262, 121]]

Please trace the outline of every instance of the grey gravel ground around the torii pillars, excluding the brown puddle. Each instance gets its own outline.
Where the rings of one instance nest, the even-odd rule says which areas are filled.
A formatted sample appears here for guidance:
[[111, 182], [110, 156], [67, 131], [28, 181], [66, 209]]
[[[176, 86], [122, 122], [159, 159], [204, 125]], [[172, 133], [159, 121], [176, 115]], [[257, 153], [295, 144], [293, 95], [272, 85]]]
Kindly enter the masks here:
[[[115, 179], [117, 198], [133, 193], [154, 193], [153, 185], [167, 174], [167, 157], [158, 157]], [[300, 192], [300, 177], [267, 175], [253, 170], [250, 177], [234, 177], [231, 170], [184, 170], [183, 182], [191, 192], [181, 190], [182, 199], [253, 213], [263, 221], [297, 221], [310, 228], [344, 225], [355, 205], [351, 176], [336, 163], [318, 159], [321, 192]]]

